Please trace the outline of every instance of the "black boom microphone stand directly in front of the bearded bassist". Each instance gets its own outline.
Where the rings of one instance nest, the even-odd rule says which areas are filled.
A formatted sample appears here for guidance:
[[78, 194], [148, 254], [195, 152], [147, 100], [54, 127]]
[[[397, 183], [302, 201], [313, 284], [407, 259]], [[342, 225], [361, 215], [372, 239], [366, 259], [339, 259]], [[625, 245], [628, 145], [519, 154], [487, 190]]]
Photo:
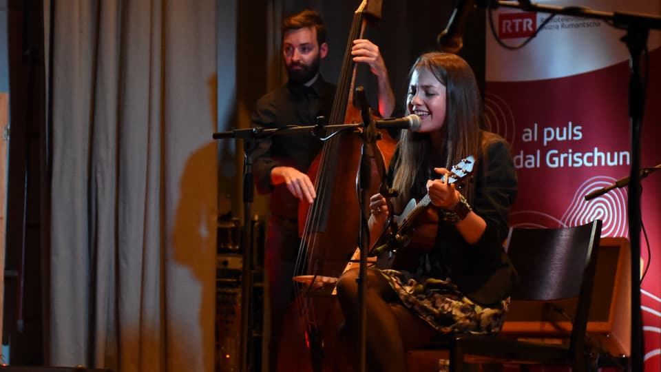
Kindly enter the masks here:
[[[350, 130], [353, 128], [361, 127], [361, 123], [342, 124], [342, 125], [285, 125], [284, 127], [275, 129], [264, 128], [247, 128], [242, 130], [232, 130], [230, 132], [216, 132], [213, 133], [213, 139], [224, 138], [237, 138], [244, 141], [244, 174], [243, 174], [243, 213], [244, 213], [244, 227], [242, 234], [243, 242], [243, 266], [242, 266], [242, 291], [241, 291], [241, 344], [240, 344], [240, 371], [251, 371], [251, 364], [249, 362], [249, 350], [251, 347], [252, 339], [252, 322], [251, 313], [249, 309], [252, 306], [252, 287], [253, 287], [253, 268], [252, 268], [252, 226], [251, 226], [251, 207], [254, 199], [253, 187], [253, 174], [252, 174], [252, 154], [253, 149], [257, 142], [263, 138], [269, 138], [275, 135], [284, 134], [299, 134], [307, 132], [311, 135], [320, 133], [321, 130], [337, 130], [337, 132], [322, 138], [326, 141], [331, 136], [338, 134], [343, 130]], [[361, 255], [363, 250], [361, 249]]]

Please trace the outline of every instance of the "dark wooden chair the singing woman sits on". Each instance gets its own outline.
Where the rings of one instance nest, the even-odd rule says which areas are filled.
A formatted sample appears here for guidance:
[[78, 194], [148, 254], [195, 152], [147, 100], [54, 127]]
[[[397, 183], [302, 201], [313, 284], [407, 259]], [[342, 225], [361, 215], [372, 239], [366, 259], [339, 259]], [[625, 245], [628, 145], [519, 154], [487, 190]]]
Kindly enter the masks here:
[[548, 322], [571, 329], [568, 342], [461, 334], [423, 349], [449, 350], [450, 372], [464, 371], [464, 364], [470, 363], [596, 370], [587, 350], [586, 328], [601, 226], [600, 220], [594, 220], [560, 229], [515, 227], [505, 244], [519, 275], [512, 300], [543, 303]]

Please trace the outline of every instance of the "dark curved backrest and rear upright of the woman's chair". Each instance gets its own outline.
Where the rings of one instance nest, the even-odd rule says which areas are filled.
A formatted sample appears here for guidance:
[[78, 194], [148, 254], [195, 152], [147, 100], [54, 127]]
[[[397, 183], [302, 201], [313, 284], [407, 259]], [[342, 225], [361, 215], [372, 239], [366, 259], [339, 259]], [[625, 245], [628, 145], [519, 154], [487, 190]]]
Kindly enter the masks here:
[[[571, 318], [569, 347], [576, 353], [585, 345], [601, 226], [594, 220], [558, 229], [513, 227], [505, 243], [519, 276], [512, 300], [549, 304], [544, 309], [550, 321]], [[567, 303], [576, 306], [567, 309]]]

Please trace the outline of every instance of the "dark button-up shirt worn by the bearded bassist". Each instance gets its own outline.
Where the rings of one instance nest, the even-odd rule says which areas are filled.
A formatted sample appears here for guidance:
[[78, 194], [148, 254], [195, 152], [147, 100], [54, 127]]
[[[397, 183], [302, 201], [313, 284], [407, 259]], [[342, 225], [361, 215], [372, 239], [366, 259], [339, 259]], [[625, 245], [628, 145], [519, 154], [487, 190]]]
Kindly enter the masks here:
[[[285, 84], [260, 98], [251, 115], [254, 127], [277, 128], [288, 124], [314, 125], [317, 116], [330, 118], [333, 110], [335, 85], [318, 76], [310, 87]], [[291, 195], [284, 183], [271, 185], [273, 167], [294, 167], [307, 172], [322, 142], [309, 134], [286, 134], [260, 140], [253, 152], [253, 174], [258, 192], [271, 195], [271, 214], [295, 220], [298, 199]]]

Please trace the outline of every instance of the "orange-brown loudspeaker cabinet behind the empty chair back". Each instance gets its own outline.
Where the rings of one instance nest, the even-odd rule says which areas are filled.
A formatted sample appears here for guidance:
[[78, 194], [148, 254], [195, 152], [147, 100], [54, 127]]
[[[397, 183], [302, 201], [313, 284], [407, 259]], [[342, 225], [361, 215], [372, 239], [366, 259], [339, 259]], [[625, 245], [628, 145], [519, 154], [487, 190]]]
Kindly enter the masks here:
[[[576, 301], [561, 307], [573, 316]], [[564, 338], [568, 321], [549, 321], [546, 305], [512, 301], [503, 335], [526, 338]], [[631, 352], [631, 251], [626, 238], [601, 238], [587, 333], [599, 351], [629, 356]]]

